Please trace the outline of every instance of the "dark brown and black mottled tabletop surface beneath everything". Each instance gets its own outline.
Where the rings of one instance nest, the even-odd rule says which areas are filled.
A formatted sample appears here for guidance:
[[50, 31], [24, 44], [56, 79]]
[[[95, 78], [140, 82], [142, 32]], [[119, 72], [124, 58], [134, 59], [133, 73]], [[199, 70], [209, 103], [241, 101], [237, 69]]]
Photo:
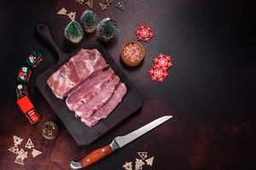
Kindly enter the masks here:
[[[123, 169], [125, 161], [135, 161], [137, 151], [148, 151], [148, 156], [154, 156], [154, 166], [143, 170], [255, 169], [256, 65], [252, 4], [220, 0], [124, 0], [125, 12], [114, 4], [102, 12], [96, 4], [98, 1], [94, 3], [96, 14], [119, 23], [118, 39], [105, 46], [143, 94], [143, 109], [93, 144], [76, 144], [35, 88], [36, 77], [54, 65], [55, 59], [49, 48], [34, 37], [33, 31], [38, 21], [44, 21], [57, 44], [64, 51], [72, 52], [95, 36], [87, 35], [78, 46], [70, 46], [63, 38], [69, 19], [56, 12], [65, 7], [77, 12], [78, 20], [85, 5], [74, 0], [2, 0], [0, 169], [68, 169], [72, 159], [78, 160], [85, 153], [110, 143], [113, 137], [164, 115], [174, 118], [90, 169]], [[143, 42], [147, 52], [143, 65], [129, 70], [119, 62], [119, 50], [126, 41], [136, 40], [134, 31], [143, 23], [152, 26], [156, 36], [149, 43]], [[15, 80], [20, 65], [33, 49], [41, 50], [47, 57], [33, 70], [28, 83], [30, 98], [43, 116], [32, 127], [15, 105]], [[174, 67], [165, 82], [151, 82], [147, 71], [154, 56], [160, 53], [171, 54]], [[41, 136], [40, 128], [46, 121], [54, 121], [60, 127], [57, 139], [49, 141]], [[13, 135], [24, 139], [21, 146], [31, 138], [35, 149], [44, 154], [36, 158], [29, 155], [25, 166], [15, 164], [15, 155], [8, 151]]]

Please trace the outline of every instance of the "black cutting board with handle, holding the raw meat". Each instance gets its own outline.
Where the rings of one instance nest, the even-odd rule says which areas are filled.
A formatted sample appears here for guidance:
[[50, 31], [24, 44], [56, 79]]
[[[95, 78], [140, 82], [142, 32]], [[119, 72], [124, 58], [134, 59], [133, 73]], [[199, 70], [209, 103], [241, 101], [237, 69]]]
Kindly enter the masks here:
[[49, 27], [43, 23], [39, 23], [36, 26], [36, 33], [41, 40], [47, 43], [49, 48], [51, 48], [58, 57], [57, 63], [47, 71], [44, 71], [44, 73], [37, 78], [37, 87], [78, 144], [90, 144], [142, 107], [143, 98], [141, 94], [138, 93], [137, 89], [115, 63], [111, 55], [108, 54], [108, 51], [103, 48], [99, 42], [88, 42], [83, 48], [96, 48], [102, 53], [104, 59], [106, 59], [113, 71], [120, 77], [121, 82], [125, 82], [127, 94], [125, 94], [121, 103], [119, 103], [116, 109], [106, 119], [98, 122], [94, 127], [87, 127], [84, 125], [84, 123], [80, 121], [79, 117], [74, 116], [75, 114], [73, 111], [68, 110], [65, 99], [57, 99], [46, 83], [50, 75], [57, 71], [61, 65], [65, 64], [68, 59], [70, 59], [73, 54], [76, 54], [80, 49], [75, 51], [73, 54], [63, 53], [60, 48], [57, 47], [53, 37], [51, 36]]

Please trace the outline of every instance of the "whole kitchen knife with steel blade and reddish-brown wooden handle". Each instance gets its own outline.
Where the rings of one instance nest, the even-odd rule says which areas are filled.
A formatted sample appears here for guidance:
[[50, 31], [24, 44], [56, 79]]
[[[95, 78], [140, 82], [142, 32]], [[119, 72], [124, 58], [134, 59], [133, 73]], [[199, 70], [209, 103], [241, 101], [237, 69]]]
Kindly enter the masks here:
[[144, 133], [148, 133], [154, 127], [159, 126], [160, 124], [162, 124], [163, 122], [166, 122], [171, 118], [172, 116], [162, 116], [154, 120], [153, 122], [149, 122], [143, 127], [140, 127], [139, 129], [126, 134], [125, 136], [118, 136], [113, 139], [111, 144], [108, 144], [106, 146], [103, 146], [102, 148], [99, 148], [97, 150], [90, 152], [90, 154], [88, 154], [87, 156], [84, 156], [84, 158], [81, 161], [71, 161], [70, 167], [73, 169], [90, 167], [91, 165], [95, 164], [97, 161], [102, 160], [102, 158], [109, 156], [111, 153], [113, 153], [114, 150], [122, 148], [123, 146], [125, 146], [125, 144], [129, 144], [131, 141], [142, 136]]

